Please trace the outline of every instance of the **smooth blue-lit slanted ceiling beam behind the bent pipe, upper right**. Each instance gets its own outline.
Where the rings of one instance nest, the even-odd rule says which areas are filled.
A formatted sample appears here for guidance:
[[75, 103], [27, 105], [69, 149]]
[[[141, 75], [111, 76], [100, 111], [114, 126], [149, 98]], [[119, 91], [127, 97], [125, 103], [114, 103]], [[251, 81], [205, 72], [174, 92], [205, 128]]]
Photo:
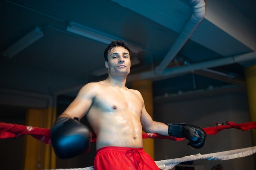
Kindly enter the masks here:
[[[112, 0], [154, 22], [180, 33], [192, 13], [187, 0]], [[229, 0], [207, 0], [204, 20], [192, 41], [222, 56], [256, 51], [255, 23]]]

